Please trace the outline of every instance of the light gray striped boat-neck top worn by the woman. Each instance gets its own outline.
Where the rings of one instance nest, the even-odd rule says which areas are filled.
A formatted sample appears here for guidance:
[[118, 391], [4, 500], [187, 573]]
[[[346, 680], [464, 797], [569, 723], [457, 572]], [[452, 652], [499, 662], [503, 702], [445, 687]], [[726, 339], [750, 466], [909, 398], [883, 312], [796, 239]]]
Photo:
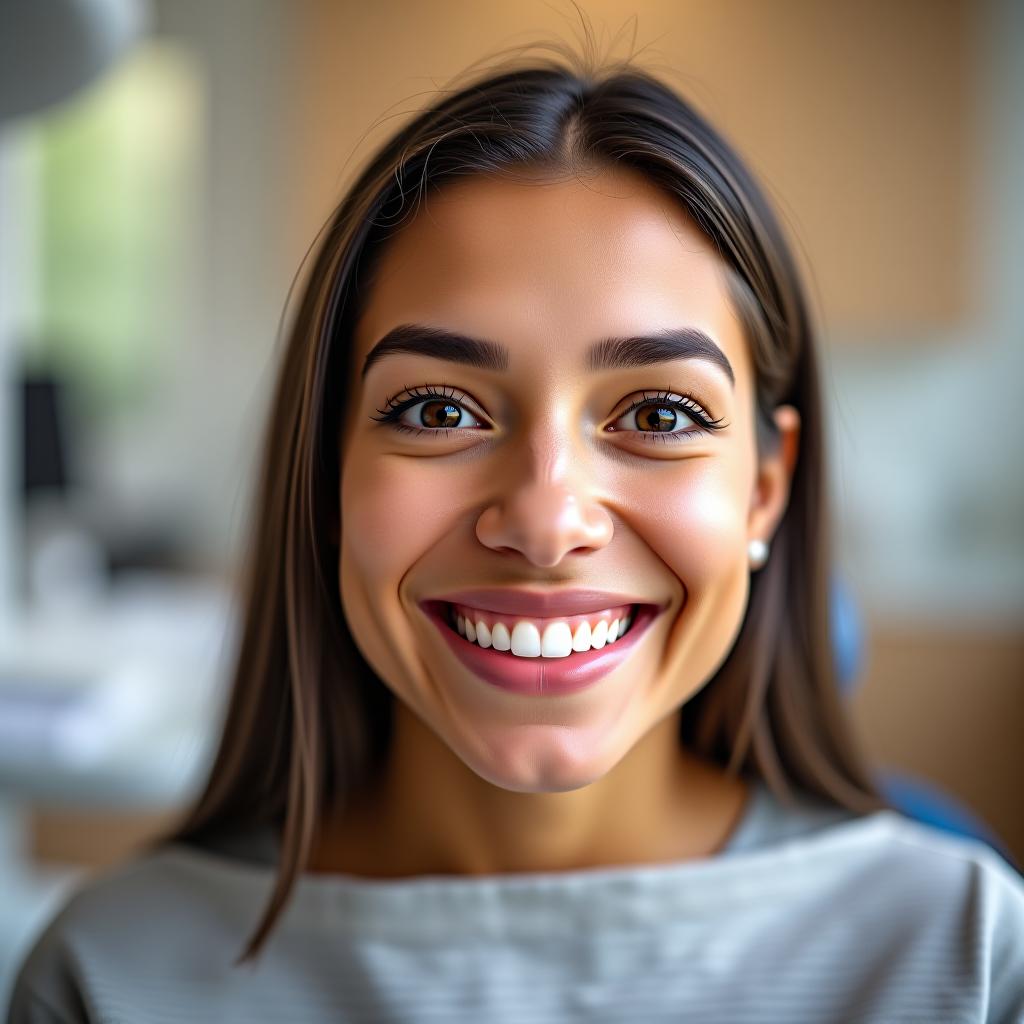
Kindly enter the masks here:
[[669, 864], [486, 878], [306, 874], [232, 968], [267, 834], [93, 877], [36, 941], [8, 1024], [1024, 1022], [1024, 881], [892, 811], [777, 803]]

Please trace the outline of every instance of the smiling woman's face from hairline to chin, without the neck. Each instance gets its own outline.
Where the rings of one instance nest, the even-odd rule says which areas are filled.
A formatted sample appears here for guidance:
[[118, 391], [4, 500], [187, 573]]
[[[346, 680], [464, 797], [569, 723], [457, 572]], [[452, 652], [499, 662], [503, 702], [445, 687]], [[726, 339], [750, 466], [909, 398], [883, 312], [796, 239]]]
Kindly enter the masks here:
[[[364, 376], [407, 325], [505, 351], [438, 358], [414, 334], [420, 350]], [[684, 330], [721, 357], [588, 366], [604, 339]], [[389, 241], [349, 380], [339, 582], [364, 656], [492, 783], [600, 778], [724, 660], [746, 606], [748, 542], [770, 539], [784, 507], [797, 416], [780, 408], [780, 455], [759, 466], [753, 366], [713, 244], [630, 171], [447, 185]], [[381, 422], [389, 400], [411, 398]], [[596, 683], [512, 692], [464, 664], [422, 604], [481, 587], [616, 591], [659, 613]]]

